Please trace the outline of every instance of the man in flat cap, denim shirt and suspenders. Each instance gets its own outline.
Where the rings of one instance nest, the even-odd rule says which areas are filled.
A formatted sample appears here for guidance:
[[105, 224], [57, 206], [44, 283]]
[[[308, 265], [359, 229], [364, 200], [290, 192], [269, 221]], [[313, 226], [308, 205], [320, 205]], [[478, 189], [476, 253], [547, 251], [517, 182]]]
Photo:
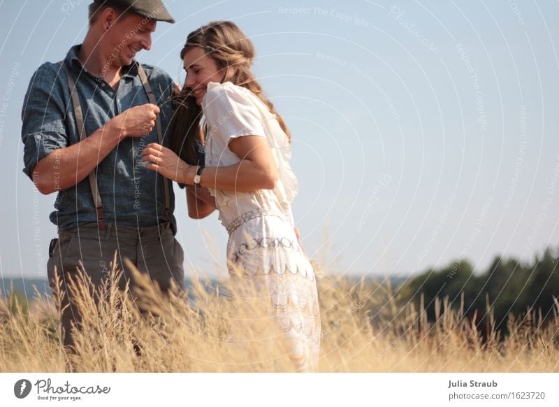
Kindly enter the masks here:
[[58, 192], [48, 276], [54, 287], [56, 271], [65, 291], [68, 350], [80, 313], [67, 284], [85, 272], [99, 287], [115, 250], [125, 280], [128, 258], [162, 290], [183, 286], [173, 187], [141, 162], [145, 145], [168, 143], [173, 113], [173, 80], [133, 59], [150, 50], [157, 21], [175, 22], [161, 0], [95, 0], [83, 43], [41, 65], [24, 99], [24, 172], [43, 194]]

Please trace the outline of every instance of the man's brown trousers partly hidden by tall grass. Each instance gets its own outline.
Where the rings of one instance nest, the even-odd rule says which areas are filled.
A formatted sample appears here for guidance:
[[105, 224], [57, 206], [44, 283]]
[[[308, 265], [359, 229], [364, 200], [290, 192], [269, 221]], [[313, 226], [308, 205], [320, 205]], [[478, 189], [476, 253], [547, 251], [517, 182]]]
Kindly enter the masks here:
[[184, 253], [173, 231], [164, 224], [140, 228], [108, 224], [106, 230], [100, 231], [96, 223], [88, 223], [79, 228], [59, 230], [58, 236], [47, 269], [50, 287], [54, 290], [56, 268], [64, 290], [60, 324], [67, 350], [73, 350], [72, 326], [79, 329], [81, 321], [68, 290], [70, 278], [85, 269], [94, 286], [99, 287], [108, 277], [115, 250], [117, 269], [122, 270], [124, 277], [119, 282], [121, 288], [126, 282], [133, 286], [131, 273], [124, 265], [125, 258], [130, 259], [140, 272], [147, 273], [164, 292], [169, 290], [171, 281], [184, 288]]

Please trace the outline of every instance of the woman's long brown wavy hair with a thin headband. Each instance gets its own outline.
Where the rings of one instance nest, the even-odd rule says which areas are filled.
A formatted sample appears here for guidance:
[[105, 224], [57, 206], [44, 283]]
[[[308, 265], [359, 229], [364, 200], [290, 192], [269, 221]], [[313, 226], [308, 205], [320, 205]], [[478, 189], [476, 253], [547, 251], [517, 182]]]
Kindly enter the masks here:
[[[283, 118], [276, 113], [273, 103], [263, 95], [262, 87], [250, 71], [256, 55], [254, 45], [234, 22], [212, 21], [192, 31], [187, 37], [187, 43], [180, 51], [180, 59], [184, 59], [187, 50], [196, 46], [191, 44], [205, 48], [208, 55], [217, 62], [218, 68], [225, 69], [222, 83], [231, 82], [233, 85], [246, 87], [259, 97], [268, 106], [270, 112], [276, 115], [279, 126], [291, 141], [291, 134]], [[170, 140], [171, 148], [182, 159], [196, 163], [198, 160], [196, 140], [202, 116], [201, 107], [196, 104], [192, 90], [187, 87], [175, 95], [175, 101], [177, 108], [171, 127], [173, 129]]]

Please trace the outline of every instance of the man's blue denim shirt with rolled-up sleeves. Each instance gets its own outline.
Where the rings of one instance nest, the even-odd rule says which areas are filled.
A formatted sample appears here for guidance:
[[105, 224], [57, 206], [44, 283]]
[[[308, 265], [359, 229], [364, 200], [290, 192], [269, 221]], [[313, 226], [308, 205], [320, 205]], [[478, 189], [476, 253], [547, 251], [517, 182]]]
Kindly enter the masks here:
[[[112, 117], [133, 106], [149, 103], [138, 76], [138, 63], [124, 68], [118, 90], [83, 69], [78, 59], [80, 45], [73, 46], [64, 63], [70, 69], [80, 96], [86, 135], [106, 124]], [[173, 80], [161, 69], [142, 65], [161, 109], [159, 118], [168, 145], [169, 123], [173, 115], [171, 92]], [[33, 170], [47, 155], [58, 148], [78, 143], [80, 135], [75, 122], [70, 88], [66, 74], [59, 64], [47, 62], [31, 77], [22, 108], [22, 141], [24, 143], [24, 173], [33, 177]], [[160, 175], [142, 165], [142, 150], [149, 143], [157, 143], [157, 127], [147, 136], [124, 138], [115, 150], [97, 166], [97, 182], [107, 223], [131, 227], [154, 226], [164, 222], [164, 198]], [[62, 169], [61, 169], [62, 171]], [[175, 196], [169, 183], [170, 223], [176, 230], [173, 210]], [[55, 211], [50, 220], [59, 229], [77, 227], [86, 222], [97, 222], [89, 178], [67, 190], [58, 192]]]

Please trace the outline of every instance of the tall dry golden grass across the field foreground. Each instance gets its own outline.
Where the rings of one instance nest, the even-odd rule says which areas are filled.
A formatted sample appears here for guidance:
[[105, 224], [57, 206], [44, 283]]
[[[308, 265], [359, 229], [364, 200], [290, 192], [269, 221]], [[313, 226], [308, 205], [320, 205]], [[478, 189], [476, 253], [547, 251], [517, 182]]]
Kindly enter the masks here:
[[[112, 278], [117, 272], [112, 271]], [[290, 371], [267, 315], [235, 299], [235, 287], [208, 290], [192, 279], [187, 293], [162, 296], [137, 273], [134, 290], [107, 284], [96, 305], [87, 282], [73, 287], [84, 320], [75, 354], [64, 352], [55, 304], [38, 297], [29, 311], [0, 301], [0, 371]], [[509, 318], [510, 334], [482, 338], [463, 306], [437, 299], [436, 320], [425, 307], [400, 305], [389, 283], [324, 276], [318, 281], [322, 340], [319, 371], [440, 372], [559, 370], [559, 303], [551, 322], [530, 312]], [[55, 297], [60, 297], [57, 290]], [[491, 317], [489, 318], [491, 320]], [[491, 328], [491, 327], [490, 327]]]

